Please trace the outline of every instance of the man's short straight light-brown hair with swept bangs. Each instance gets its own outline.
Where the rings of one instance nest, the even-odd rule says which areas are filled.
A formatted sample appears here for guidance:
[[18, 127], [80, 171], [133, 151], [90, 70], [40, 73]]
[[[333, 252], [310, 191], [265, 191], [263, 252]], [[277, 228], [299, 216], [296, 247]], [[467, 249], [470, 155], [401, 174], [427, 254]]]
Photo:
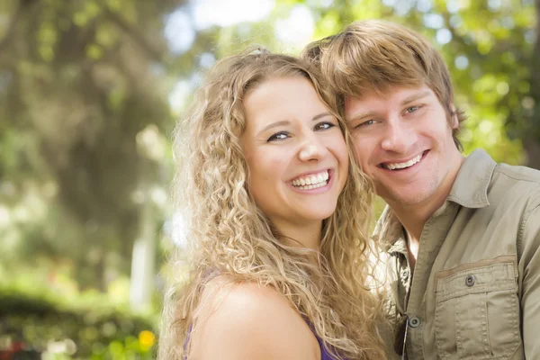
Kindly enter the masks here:
[[[392, 85], [428, 85], [437, 95], [448, 120], [464, 112], [454, 103], [454, 89], [445, 60], [428, 40], [397, 23], [365, 20], [351, 23], [344, 31], [309, 44], [302, 52], [320, 67], [337, 96], [335, 105], [343, 113], [348, 96], [360, 97], [374, 91], [384, 94]], [[455, 146], [462, 149], [453, 131]]]

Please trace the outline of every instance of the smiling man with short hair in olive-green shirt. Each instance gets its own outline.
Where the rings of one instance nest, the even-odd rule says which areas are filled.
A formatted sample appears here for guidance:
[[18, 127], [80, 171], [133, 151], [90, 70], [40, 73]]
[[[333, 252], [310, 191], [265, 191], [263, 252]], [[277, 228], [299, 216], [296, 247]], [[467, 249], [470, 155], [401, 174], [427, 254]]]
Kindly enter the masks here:
[[462, 155], [445, 62], [414, 31], [352, 23], [303, 56], [334, 87], [388, 204], [374, 238], [390, 269], [393, 356], [540, 358], [540, 172]]

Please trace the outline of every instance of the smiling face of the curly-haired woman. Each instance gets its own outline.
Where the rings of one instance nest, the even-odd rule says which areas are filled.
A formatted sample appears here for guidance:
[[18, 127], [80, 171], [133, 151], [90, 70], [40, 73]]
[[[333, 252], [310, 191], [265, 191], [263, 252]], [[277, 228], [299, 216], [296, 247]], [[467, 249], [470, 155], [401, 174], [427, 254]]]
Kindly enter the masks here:
[[257, 206], [278, 229], [328, 218], [347, 180], [348, 154], [311, 82], [268, 79], [247, 93], [244, 108], [242, 147]]

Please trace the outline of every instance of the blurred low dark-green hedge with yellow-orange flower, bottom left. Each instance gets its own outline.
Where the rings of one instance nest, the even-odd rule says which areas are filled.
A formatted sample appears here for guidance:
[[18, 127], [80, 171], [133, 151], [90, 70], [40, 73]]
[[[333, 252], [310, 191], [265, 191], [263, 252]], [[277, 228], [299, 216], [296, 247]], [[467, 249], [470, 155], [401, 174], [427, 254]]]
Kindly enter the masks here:
[[93, 359], [151, 359], [153, 320], [112, 307], [107, 299], [69, 302], [58, 294], [0, 287], [0, 351], [14, 343], [50, 356]]

